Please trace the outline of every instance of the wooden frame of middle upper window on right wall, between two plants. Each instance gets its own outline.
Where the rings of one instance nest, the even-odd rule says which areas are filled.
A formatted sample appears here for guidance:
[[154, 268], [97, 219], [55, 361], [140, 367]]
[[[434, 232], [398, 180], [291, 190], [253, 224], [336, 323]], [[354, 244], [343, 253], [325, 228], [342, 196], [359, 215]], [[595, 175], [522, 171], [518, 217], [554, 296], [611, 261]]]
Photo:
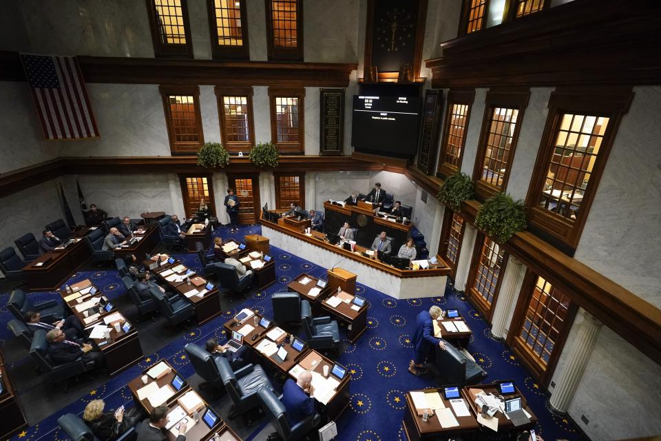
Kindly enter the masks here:
[[[528, 105], [530, 98], [530, 90], [525, 89], [503, 89], [503, 90], [490, 90], [485, 97], [484, 116], [482, 118], [482, 130], [480, 132], [480, 140], [477, 147], [477, 154], [475, 155], [475, 165], [473, 167], [473, 181], [475, 181], [475, 192], [478, 198], [484, 201], [485, 199], [494, 196], [497, 193], [504, 192], [507, 189], [507, 181], [510, 180], [510, 173], [512, 172], [512, 163], [514, 163], [514, 154], [516, 153], [516, 145], [518, 144], [518, 134], [521, 133], [521, 126], [523, 125], [523, 117], [525, 115], [525, 107]], [[507, 159], [507, 168], [503, 175], [503, 184], [499, 187], [481, 181], [482, 167], [484, 164], [484, 156], [487, 150], [487, 141], [489, 139], [489, 129], [491, 125], [491, 118], [496, 107], [506, 107], [518, 110], [516, 116], [516, 126], [514, 127], [514, 134], [512, 135], [512, 145], [510, 146], [510, 154]]]

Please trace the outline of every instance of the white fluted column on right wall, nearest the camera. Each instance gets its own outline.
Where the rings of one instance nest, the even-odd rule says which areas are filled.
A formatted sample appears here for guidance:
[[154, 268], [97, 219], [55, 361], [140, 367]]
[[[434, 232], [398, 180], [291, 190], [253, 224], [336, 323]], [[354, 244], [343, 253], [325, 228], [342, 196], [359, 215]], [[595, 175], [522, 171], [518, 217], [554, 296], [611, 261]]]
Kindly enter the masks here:
[[[583, 377], [585, 367], [603, 325], [602, 322], [583, 308], [580, 309], [580, 316], [584, 319], [583, 323], [580, 323], [574, 345], [567, 354], [565, 368], [560, 373], [553, 395], [549, 398], [549, 405], [560, 413], [567, 413], [569, 404], [574, 399], [574, 393], [576, 393], [580, 379]], [[576, 323], [576, 325], [579, 324]]]

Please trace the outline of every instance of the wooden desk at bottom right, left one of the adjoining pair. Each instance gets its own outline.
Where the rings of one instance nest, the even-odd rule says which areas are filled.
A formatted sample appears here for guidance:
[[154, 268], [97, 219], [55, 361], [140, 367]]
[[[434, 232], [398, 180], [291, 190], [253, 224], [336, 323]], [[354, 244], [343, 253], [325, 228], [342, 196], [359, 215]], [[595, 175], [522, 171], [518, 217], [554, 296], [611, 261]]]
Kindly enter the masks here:
[[[438, 392], [441, 395], [441, 400], [443, 400], [445, 407], [452, 409], [450, 401], [445, 400], [443, 397], [443, 388], [424, 389], [415, 392]], [[468, 402], [465, 399], [463, 399], [463, 403], [468, 407]], [[473, 415], [457, 416], [454, 414], [454, 410], [452, 410], [452, 414], [454, 415], [454, 418], [457, 418], [457, 422], [459, 422], [458, 427], [443, 428], [439, 422], [439, 418], [437, 418], [435, 414], [434, 416], [431, 416], [427, 422], [424, 422], [422, 417], [418, 416], [415, 406], [413, 405], [411, 393], [407, 392], [406, 409], [404, 410], [404, 419], [402, 420], [402, 427], [406, 434], [406, 439], [409, 441], [437, 440], [439, 438], [447, 439], [452, 436], [476, 433], [479, 431], [479, 424]]]

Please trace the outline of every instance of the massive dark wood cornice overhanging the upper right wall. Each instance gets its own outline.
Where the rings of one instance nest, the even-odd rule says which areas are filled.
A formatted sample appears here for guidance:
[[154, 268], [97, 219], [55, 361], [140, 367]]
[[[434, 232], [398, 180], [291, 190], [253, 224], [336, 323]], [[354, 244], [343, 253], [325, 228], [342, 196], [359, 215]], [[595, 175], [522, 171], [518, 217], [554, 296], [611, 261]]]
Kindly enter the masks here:
[[426, 66], [432, 88], [660, 84], [660, 28], [658, 2], [571, 1], [446, 41]]

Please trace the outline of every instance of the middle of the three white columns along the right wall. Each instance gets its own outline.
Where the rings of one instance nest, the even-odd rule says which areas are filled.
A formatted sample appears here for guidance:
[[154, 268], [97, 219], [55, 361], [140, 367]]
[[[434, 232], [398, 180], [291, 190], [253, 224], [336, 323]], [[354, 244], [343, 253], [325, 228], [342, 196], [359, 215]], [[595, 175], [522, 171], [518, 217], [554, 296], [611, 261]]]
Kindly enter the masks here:
[[506, 338], [507, 326], [514, 309], [514, 299], [518, 298], [518, 293], [523, 285], [525, 277], [525, 265], [516, 257], [510, 255], [507, 258], [505, 274], [501, 280], [501, 289], [498, 294], [496, 304], [492, 305], [494, 314], [491, 318], [491, 335], [494, 338]]

